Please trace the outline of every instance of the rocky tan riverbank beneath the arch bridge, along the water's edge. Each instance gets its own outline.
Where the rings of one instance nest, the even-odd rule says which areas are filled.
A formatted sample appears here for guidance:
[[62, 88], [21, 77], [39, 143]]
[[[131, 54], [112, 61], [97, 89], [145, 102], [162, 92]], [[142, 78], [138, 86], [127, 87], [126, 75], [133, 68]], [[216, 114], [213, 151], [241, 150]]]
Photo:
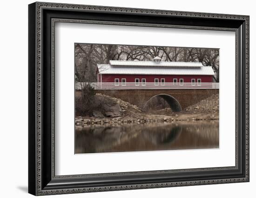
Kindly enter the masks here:
[[181, 112], [172, 112], [170, 108], [159, 111], [143, 112], [139, 107], [121, 99], [97, 94], [111, 103], [105, 104], [100, 111], [93, 112], [93, 116], [77, 116], [75, 125], [116, 125], [126, 123], [156, 123], [219, 119], [219, 94], [215, 94], [199, 103], [189, 106]]

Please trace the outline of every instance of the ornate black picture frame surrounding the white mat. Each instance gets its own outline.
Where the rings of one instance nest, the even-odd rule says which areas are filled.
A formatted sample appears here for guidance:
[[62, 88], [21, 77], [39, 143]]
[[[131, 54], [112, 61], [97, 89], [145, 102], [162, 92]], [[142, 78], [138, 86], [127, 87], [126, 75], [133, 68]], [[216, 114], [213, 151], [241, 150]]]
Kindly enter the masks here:
[[[55, 176], [54, 22], [236, 32], [236, 166]], [[28, 6], [28, 192], [33, 195], [249, 182], [249, 16], [35, 2]]]

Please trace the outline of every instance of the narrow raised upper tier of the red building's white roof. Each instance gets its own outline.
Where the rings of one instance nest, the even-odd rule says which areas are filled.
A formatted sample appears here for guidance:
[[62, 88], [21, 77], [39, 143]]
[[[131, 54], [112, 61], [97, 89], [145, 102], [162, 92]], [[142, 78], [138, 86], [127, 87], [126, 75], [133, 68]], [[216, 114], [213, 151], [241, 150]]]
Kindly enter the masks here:
[[168, 62], [168, 61], [139, 61], [139, 60], [110, 60], [111, 66], [155, 66], [155, 67], [201, 67], [200, 62]]

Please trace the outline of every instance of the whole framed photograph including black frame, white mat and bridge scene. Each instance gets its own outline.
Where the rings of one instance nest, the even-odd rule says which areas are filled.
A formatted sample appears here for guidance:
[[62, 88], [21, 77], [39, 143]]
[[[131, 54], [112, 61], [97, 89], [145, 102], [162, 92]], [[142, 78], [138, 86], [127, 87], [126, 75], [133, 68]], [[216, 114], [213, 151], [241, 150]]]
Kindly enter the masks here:
[[28, 15], [29, 193], [249, 182], [249, 16]]

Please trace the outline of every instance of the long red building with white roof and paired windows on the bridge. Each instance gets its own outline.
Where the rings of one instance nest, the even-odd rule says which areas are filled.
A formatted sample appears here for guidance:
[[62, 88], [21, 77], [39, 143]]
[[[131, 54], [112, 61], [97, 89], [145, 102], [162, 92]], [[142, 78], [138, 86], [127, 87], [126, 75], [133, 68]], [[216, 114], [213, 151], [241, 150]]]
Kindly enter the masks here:
[[102, 83], [211, 83], [215, 75], [211, 66], [200, 62], [162, 62], [110, 60], [97, 65], [98, 82]]

